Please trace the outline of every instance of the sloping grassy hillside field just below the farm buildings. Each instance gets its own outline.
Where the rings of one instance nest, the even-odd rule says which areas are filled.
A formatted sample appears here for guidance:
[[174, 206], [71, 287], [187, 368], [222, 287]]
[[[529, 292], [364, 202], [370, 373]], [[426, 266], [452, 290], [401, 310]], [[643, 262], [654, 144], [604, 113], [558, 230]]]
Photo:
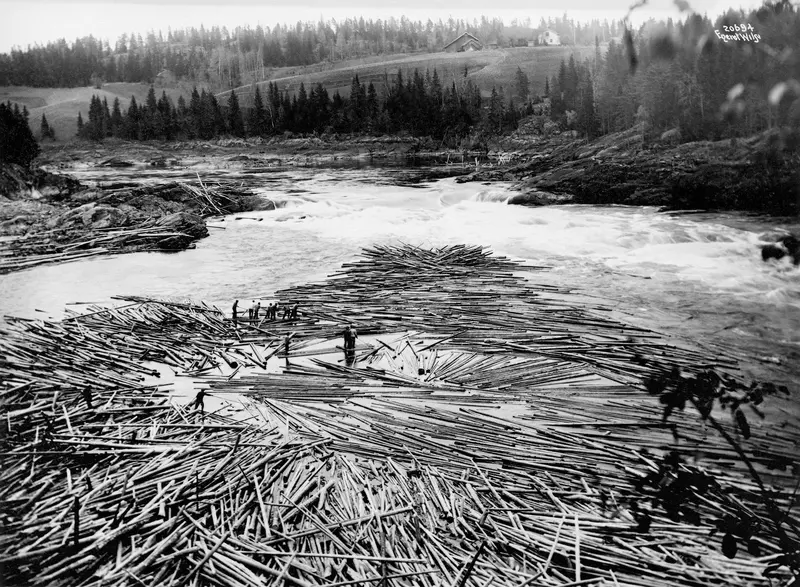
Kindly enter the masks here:
[[[362, 83], [373, 82], [379, 92], [384, 90], [385, 74], [390, 80], [398, 69], [412, 74], [414, 69], [420, 72], [435, 68], [443, 83], [450, 83], [454, 78], [459, 80], [467, 68], [468, 77], [475, 81], [485, 96], [489, 96], [492, 86], [503, 86], [511, 90], [514, 86], [514, 74], [520, 67], [531, 81], [531, 91], [535, 94], [544, 92], [545, 78], [558, 74], [561, 60], [569, 60], [574, 55], [576, 61], [594, 55], [594, 47], [515, 47], [475, 51], [469, 53], [425, 53], [418, 55], [398, 54], [382, 58], [367, 58], [343, 61], [334, 64], [313, 65], [308, 68], [283, 68], [272, 72], [267, 81], [278, 84], [281, 90], [295, 92], [304, 83], [308, 89], [311, 85], [322, 83], [330, 94], [338, 90], [347, 97], [350, 83], [357, 74]], [[267, 82], [260, 85], [263, 87]], [[251, 84], [237, 88], [236, 93], [244, 105], [249, 104]], [[226, 94], [226, 93], [225, 93]], [[224, 95], [224, 94], [223, 94]]]

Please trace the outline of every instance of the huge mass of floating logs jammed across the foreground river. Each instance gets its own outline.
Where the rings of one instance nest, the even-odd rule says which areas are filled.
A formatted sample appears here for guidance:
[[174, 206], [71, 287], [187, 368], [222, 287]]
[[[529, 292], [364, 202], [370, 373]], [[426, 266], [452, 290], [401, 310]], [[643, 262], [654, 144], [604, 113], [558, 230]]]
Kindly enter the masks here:
[[[734, 450], [695, 415], [664, 423], [642, 388], [676, 365], [735, 376], [735, 358], [536, 285], [540, 270], [480, 247], [376, 247], [278, 292], [296, 320], [234, 324], [206, 304], [135, 297], [58, 322], [7, 319], [5, 583], [788, 580]], [[360, 338], [345, 361], [348, 322]], [[794, 458], [786, 418], [741, 440], [758, 466]], [[653, 508], [643, 528], [641, 480], [669, 450], [702, 451], [716, 485], [694, 498], [698, 519]], [[765, 478], [794, 532], [785, 469]], [[757, 553], [729, 559], [713, 520], [742, 511], [766, 530]]]

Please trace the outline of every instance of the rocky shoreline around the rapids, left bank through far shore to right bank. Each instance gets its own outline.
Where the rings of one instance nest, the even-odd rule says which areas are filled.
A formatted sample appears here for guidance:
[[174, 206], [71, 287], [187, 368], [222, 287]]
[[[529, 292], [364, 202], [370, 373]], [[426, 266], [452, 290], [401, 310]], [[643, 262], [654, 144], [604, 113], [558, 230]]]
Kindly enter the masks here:
[[[84, 254], [185, 249], [207, 234], [203, 217], [272, 205], [241, 183], [237, 188], [234, 178], [267, 178], [297, 167], [395, 167], [398, 183], [448, 176], [512, 181], [519, 193], [509, 203], [528, 206], [800, 211], [800, 163], [792, 167], [796, 155], [778, 149], [774, 135], [644, 145], [635, 131], [587, 143], [526, 129], [523, 124], [489, 152], [446, 150], [412, 137], [352, 136], [49, 145], [36, 162], [40, 169], [0, 172], [0, 271]], [[419, 166], [426, 166], [423, 173], [414, 171]], [[206, 206], [209, 185], [224, 191], [217, 209]], [[99, 231], [118, 231], [119, 238]]]

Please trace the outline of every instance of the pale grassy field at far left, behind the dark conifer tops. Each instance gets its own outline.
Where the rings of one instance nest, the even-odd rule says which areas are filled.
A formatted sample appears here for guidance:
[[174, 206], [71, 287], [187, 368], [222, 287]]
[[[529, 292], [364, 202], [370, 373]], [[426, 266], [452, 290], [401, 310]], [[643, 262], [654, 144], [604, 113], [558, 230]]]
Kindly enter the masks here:
[[[39, 138], [39, 127], [42, 113], [47, 117], [47, 122], [56, 131], [56, 141], [69, 142], [75, 138], [78, 129], [78, 112], [83, 114], [83, 119], [89, 117], [89, 102], [92, 95], [108, 100], [108, 107], [114, 104], [114, 99], [119, 98], [123, 113], [127, 110], [131, 96], [136, 97], [139, 104], [143, 104], [150, 90], [149, 84], [114, 83], [105, 84], [98, 90], [93, 86], [85, 88], [29, 88], [21, 86], [0, 87], [0, 101], [17, 103], [20, 108], [24, 105], [30, 112], [30, 125], [36, 138]], [[188, 99], [191, 88], [166, 89], [167, 95], [174, 101], [184, 94]], [[162, 88], [156, 88], [156, 96], [160, 97]]]

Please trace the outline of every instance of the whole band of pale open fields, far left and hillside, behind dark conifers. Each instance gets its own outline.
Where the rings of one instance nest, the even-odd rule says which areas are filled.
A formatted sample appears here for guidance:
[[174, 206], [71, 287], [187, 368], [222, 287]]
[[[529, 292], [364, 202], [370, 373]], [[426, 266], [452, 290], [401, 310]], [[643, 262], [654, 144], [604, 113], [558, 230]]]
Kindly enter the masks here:
[[[306, 88], [322, 83], [332, 95], [338, 90], [342, 96], [350, 94], [350, 83], [356, 74], [362, 83], [373, 82], [378, 92], [385, 90], [385, 74], [389, 74], [391, 81], [402, 70], [404, 74], [413, 74], [415, 69], [420, 72], [435, 68], [443, 84], [449, 84], [453, 79], [460, 80], [467, 68], [468, 76], [480, 87], [484, 96], [489, 96], [492, 86], [503, 86], [507, 91], [514, 87], [514, 74], [520, 67], [531, 81], [531, 92], [542, 94], [544, 92], [545, 78], [558, 74], [561, 60], [568, 60], [574, 55], [577, 61], [590, 58], [594, 55], [594, 47], [516, 47], [512, 49], [498, 49], [488, 51], [475, 51], [470, 53], [425, 53], [425, 54], [397, 54], [377, 57], [353, 59], [337, 63], [319, 63], [308, 67], [281, 68], [271, 72], [268, 81], [274, 81], [281, 90], [295, 92], [300, 83], [305, 83]], [[267, 82], [261, 85], [265, 86]], [[252, 85], [244, 85], [237, 89], [237, 94], [243, 106], [250, 104]], [[30, 122], [34, 134], [39, 136], [39, 124], [42, 113], [47, 116], [47, 121], [55, 128], [56, 139], [59, 143], [69, 142], [75, 138], [77, 130], [78, 112], [83, 114], [84, 120], [88, 118], [89, 101], [93, 94], [98, 94], [100, 99], [106, 98], [109, 107], [119, 98], [124, 110], [128, 108], [131, 96], [136, 101], [143, 103], [150, 89], [148, 84], [113, 83], [105, 84], [102, 89], [94, 87], [85, 88], [29, 88], [29, 87], [0, 87], [0, 101], [16, 102], [22, 107], [28, 107]], [[161, 96], [162, 88], [156, 88], [156, 95]], [[167, 95], [173, 101], [183, 94], [187, 100], [191, 92], [190, 84], [183, 84], [179, 88], [167, 88]], [[226, 92], [220, 94], [222, 100], [226, 99]]]

